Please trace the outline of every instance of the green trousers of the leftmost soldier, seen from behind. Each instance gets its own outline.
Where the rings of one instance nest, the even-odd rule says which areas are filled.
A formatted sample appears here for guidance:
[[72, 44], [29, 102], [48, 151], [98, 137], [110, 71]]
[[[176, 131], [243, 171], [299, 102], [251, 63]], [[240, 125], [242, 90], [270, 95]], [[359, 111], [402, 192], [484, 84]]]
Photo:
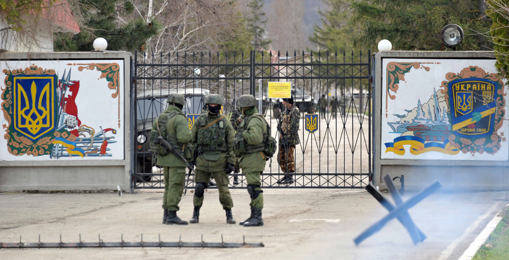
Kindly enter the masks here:
[[179, 202], [184, 191], [186, 168], [185, 167], [164, 167], [164, 193], [162, 196], [162, 208], [178, 211]]

